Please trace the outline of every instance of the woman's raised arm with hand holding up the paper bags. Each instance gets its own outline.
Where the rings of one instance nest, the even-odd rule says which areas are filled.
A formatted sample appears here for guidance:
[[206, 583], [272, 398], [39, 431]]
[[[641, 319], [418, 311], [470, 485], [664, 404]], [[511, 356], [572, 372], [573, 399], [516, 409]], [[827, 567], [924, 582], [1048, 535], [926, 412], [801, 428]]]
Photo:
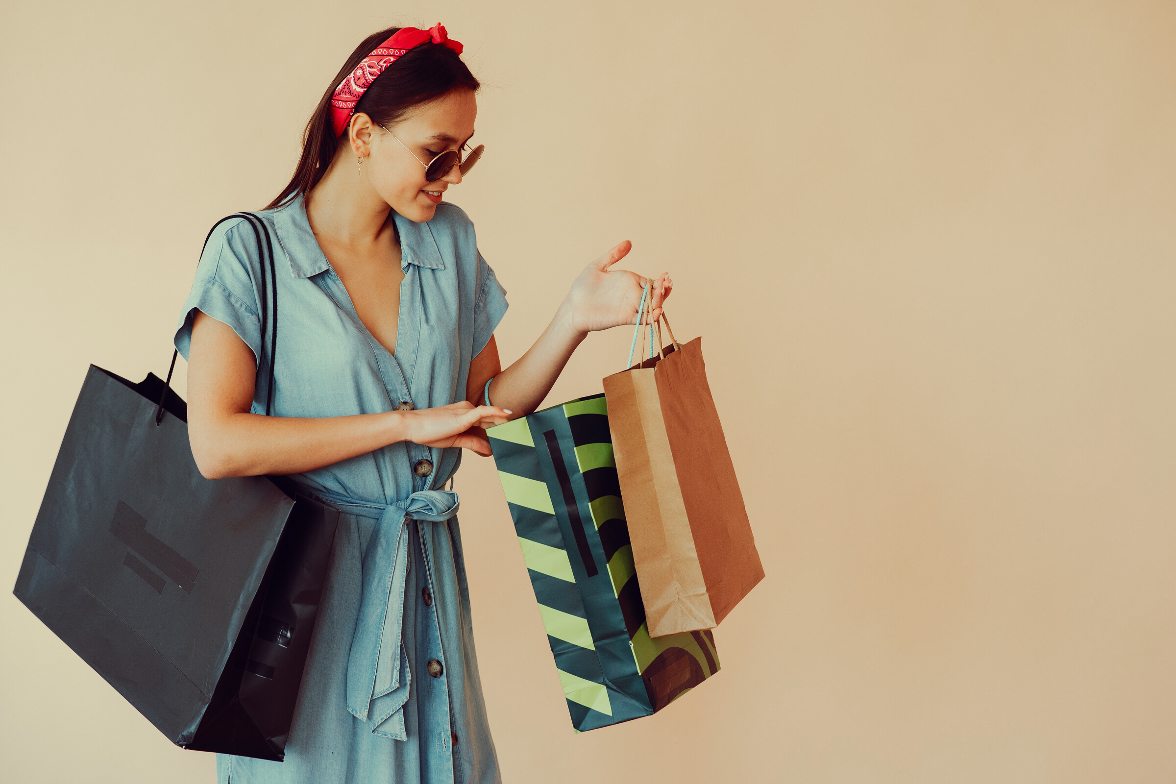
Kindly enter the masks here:
[[[588, 333], [621, 324], [636, 324], [637, 308], [646, 279], [609, 267], [623, 259], [633, 244], [626, 240], [588, 264], [572, 284], [535, 344], [506, 370], [499, 371], [499, 349], [492, 339], [469, 367], [466, 400], [482, 403], [482, 390], [489, 378], [490, 400], [513, 411], [513, 417], [534, 411]], [[661, 316], [662, 302], [673, 289], [668, 275], [652, 281], [654, 320]], [[489, 356], [493, 354], [493, 356]], [[483, 360], [483, 356], [486, 357]], [[512, 418], [513, 418], [512, 417]]]

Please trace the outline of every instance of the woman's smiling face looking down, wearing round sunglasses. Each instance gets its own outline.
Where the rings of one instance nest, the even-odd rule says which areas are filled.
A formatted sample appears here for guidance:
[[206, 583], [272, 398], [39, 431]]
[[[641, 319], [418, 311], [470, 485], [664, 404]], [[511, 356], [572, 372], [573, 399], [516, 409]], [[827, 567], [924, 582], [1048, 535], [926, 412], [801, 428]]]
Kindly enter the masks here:
[[432, 220], [446, 189], [461, 182], [461, 169], [454, 166], [428, 182], [426, 165], [447, 149], [460, 149], [474, 135], [476, 118], [474, 93], [460, 89], [416, 107], [387, 130], [372, 122], [362, 176], [399, 214], [417, 223]]

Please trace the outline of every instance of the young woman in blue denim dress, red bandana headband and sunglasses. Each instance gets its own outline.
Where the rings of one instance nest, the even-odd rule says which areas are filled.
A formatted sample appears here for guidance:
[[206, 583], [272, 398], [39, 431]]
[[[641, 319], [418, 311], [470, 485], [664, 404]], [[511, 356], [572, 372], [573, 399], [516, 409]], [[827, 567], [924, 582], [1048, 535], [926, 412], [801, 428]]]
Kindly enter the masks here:
[[[500, 780], [474, 655], [456, 495], [461, 449], [533, 411], [587, 333], [637, 319], [646, 279], [588, 264], [502, 370], [505, 292], [445, 201], [469, 152], [479, 82], [440, 25], [352, 53], [306, 129], [274, 237], [279, 335], [246, 219], [216, 227], [183, 304], [192, 453], [208, 477], [293, 475], [341, 510], [286, 760], [221, 755], [221, 783]], [[541, 173], [542, 174], [542, 173]], [[670, 281], [653, 281], [654, 316]], [[256, 377], [273, 367], [268, 390]], [[266, 370], [266, 374], [260, 373]], [[493, 402], [493, 404], [490, 404]]]

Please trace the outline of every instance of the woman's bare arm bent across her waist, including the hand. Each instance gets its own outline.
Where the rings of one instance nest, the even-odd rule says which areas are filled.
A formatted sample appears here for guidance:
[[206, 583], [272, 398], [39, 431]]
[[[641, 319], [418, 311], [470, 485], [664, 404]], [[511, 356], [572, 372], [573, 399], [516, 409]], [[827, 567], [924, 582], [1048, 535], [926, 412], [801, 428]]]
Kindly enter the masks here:
[[198, 311], [188, 353], [188, 438], [196, 467], [208, 478], [301, 474], [397, 441], [488, 455], [486, 435], [470, 428], [508, 418], [501, 408], [465, 401], [355, 416], [262, 416], [249, 413], [255, 373], [245, 341], [227, 324]]

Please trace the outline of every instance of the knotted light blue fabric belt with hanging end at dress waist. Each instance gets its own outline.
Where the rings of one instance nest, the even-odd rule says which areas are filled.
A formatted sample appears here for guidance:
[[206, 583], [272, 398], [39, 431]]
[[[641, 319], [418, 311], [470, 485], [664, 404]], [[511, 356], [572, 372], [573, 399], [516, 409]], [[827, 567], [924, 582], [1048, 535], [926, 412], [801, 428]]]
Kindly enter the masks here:
[[420, 490], [390, 504], [355, 501], [322, 490], [315, 494], [327, 503], [383, 509], [363, 554], [363, 594], [347, 662], [347, 710], [363, 722], [370, 716], [374, 733], [405, 741], [408, 736], [403, 706], [412, 681], [408, 654], [401, 642], [409, 562], [406, 523], [409, 520], [443, 523], [457, 514], [457, 494]]

